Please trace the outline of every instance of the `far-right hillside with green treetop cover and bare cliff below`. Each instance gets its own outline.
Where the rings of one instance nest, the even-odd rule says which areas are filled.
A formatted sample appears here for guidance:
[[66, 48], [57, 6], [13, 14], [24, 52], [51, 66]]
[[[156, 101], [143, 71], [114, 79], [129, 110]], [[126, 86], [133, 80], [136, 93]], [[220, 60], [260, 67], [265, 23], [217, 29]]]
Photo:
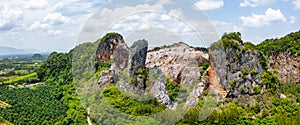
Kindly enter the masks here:
[[270, 71], [281, 82], [300, 83], [300, 31], [282, 38], [267, 39], [256, 48], [266, 55]]

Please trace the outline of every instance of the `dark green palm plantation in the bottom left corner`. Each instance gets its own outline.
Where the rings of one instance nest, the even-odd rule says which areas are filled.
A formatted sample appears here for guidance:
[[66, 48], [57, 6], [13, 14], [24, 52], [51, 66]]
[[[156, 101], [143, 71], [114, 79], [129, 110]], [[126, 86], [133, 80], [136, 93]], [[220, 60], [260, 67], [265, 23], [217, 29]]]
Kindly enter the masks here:
[[0, 100], [11, 107], [0, 108], [1, 116], [14, 124], [54, 124], [61, 122], [67, 110], [52, 93], [53, 88], [36, 89], [0, 86]]

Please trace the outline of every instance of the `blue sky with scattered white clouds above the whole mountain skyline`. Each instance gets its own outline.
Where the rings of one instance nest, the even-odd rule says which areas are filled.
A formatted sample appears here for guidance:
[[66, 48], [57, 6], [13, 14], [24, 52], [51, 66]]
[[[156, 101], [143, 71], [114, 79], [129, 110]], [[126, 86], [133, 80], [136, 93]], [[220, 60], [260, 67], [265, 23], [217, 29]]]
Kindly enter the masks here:
[[208, 46], [224, 32], [258, 44], [300, 30], [300, 0], [1, 0], [0, 46], [67, 52], [106, 32], [151, 46]]

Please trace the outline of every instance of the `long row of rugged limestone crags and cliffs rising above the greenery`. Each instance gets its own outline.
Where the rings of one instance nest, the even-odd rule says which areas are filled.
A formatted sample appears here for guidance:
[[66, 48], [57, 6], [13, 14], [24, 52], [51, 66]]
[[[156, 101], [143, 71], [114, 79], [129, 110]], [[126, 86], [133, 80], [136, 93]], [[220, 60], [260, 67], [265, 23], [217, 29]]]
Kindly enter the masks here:
[[[186, 105], [191, 106], [197, 104], [207, 89], [214, 89], [223, 98], [243, 98], [278, 89], [275, 75], [283, 82], [299, 81], [298, 56], [284, 58], [277, 54], [266, 58], [255, 45], [244, 42], [239, 33], [225, 34], [211, 45], [209, 52], [183, 42], [147, 52], [146, 40], [128, 47], [120, 34], [104, 38], [97, 48], [96, 60], [98, 63], [111, 61], [112, 65], [102, 71], [98, 80], [100, 88], [114, 84], [129, 93], [150, 92], [168, 106], [178, 99], [169, 95], [166, 82], [191, 87], [185, 97]], [[275, 83], [266, 83], [266, 76], [274, 77]]]

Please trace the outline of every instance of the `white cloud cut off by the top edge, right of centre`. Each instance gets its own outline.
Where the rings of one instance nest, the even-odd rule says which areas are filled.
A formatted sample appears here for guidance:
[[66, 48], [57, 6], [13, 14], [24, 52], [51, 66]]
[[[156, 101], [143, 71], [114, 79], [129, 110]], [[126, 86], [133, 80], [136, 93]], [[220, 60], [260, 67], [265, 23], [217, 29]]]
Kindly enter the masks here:
[[194, 8], [198, 10], [213, 10], [224, 6], [223, 0], [198, 0], [194, 4]]

